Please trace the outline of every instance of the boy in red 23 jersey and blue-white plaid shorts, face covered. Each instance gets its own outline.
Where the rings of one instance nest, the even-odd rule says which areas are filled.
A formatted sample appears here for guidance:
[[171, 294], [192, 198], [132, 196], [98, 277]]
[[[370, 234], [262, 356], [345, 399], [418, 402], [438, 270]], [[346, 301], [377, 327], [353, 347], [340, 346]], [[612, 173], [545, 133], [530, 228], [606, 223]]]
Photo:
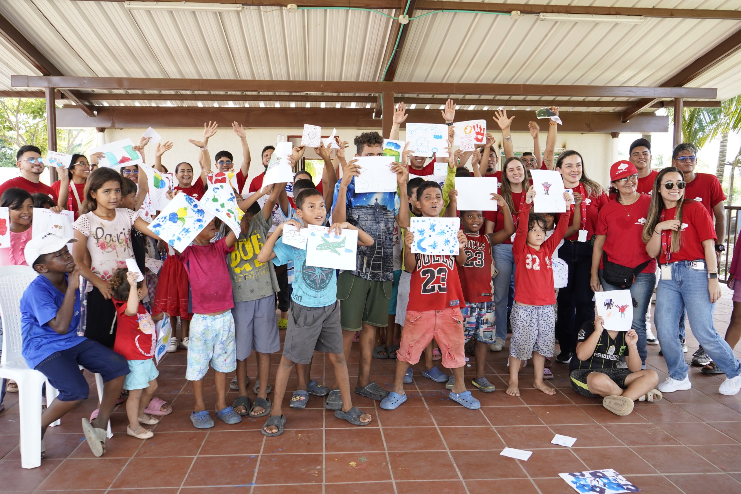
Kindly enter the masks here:
[[[493, 194], [499, 208], [504, 212], [505, 228], [496, 233], [484, 234], [481, 227], [484, 225], [482, 211], [460, 211], [461, 226], [465, 235], [465, 248], [461, 249], [456, 257], [465, 307], [461, 308], [463, 315], [463, 335], [468, 343], [473, 338], [473, 355], [476, 356], [476, 377], [471, 384], [482, 392], [491, 393], [496, 390], [494, 384], [484, 377], [484, 367], [488, 346], [494, 343], [494, 263], [491, 260], [491, 246], [502, 243], [514, 233], [514, 221], [509, 214], [507, 202], [499, 194]], [[451, 377], [448, 389], [453, 388], [455, 379]]]

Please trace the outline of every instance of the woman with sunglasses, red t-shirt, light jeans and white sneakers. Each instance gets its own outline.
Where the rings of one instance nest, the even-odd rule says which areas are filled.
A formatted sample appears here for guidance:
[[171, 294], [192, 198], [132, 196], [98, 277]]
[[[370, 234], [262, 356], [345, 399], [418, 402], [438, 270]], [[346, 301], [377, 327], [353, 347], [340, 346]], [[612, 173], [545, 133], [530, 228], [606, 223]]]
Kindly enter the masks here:
[[714, 303], [720, 298], [715, 225], [702, 204], [684, 202], [685, 185], [677, 168], [659, 172], [643, 229], [646, 251], [661, 266], [654, 320], [669, 377], [659, 384], [659, 391], [692, 387], [679, 342], [679, 317], [686, 310], [692, 334], [726, 376], [718, 391], [736, 395], [741, 389], [741, 362], [713, 323]]

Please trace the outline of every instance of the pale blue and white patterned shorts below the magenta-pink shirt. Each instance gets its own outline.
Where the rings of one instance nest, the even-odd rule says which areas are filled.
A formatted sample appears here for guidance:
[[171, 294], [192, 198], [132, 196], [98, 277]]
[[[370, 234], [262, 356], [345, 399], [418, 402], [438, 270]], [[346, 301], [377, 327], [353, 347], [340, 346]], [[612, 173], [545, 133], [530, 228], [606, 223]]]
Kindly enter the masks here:
[[236, 369], [234, 318], [231, 311], [215, 316], [193, 314], [190, 320], [185, 378], [188, 381], [201, 380], [208, 371], [209, 363], [217, 372], [233, 372]]

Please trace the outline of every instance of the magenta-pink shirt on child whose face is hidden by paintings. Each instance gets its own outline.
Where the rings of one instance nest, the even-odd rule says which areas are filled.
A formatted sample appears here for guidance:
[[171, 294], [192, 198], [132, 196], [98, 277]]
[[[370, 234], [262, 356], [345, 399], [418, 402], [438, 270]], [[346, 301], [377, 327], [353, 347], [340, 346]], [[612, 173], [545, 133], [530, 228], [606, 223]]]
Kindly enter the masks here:
[[234, 247], [227, 247], [226, 239], [222, 238], [207, 246], [191, 244], [178, 256], [190, 279], [192, 307], [188, 312], [213, 314], [234, 306], [226, 261], [227, 253], [233, 250]]

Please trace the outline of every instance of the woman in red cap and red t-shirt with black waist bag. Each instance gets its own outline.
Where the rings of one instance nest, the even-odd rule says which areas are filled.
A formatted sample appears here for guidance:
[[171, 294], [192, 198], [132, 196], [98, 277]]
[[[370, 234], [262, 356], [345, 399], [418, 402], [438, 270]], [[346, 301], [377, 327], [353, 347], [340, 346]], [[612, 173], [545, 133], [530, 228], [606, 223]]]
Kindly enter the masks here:
[[[616, 277], [613, 264], [633, 270], [628, 289], [638, 305], [633, 310], [631, 327], [638, 335], [638, 353], [641, 363], [645, 364], [646, 311], [656, 286], [656, 261], [648, 255], [643, 243], [643, 225], [648, 217], [651, 197], [638, 192], [638, 170], [629, 161], [614, 163], [610, 180], [610, 195], [616, 199], [599, 210], [594, 230], [590, 284], [595, 292], [626, 289], [630, 280], [625, 283], [625, 278]], [[604, 271], [604, 258], [608, 261], [607, 271]]]

